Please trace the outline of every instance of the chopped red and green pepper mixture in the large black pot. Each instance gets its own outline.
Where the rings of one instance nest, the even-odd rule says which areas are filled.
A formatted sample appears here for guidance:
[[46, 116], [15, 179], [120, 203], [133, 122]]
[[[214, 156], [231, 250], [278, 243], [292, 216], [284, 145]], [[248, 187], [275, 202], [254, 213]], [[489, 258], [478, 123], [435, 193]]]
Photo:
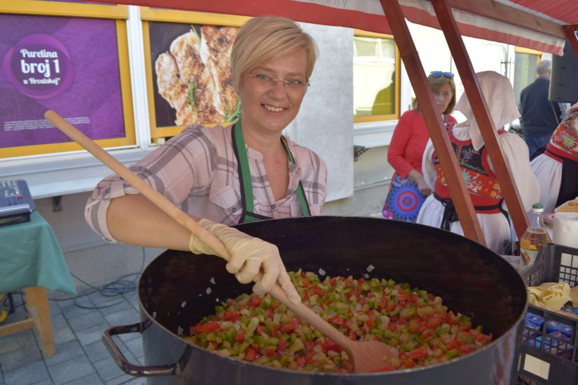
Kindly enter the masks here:
[[[399, 358], [385, 370], [427, 366], [489, 344], [492, 335], [472, 328], [464, 314], [448, 310], [440, 297], [392, 279], [329, 277], [290, 272], [304, 304], [351, 339], [378, 339]], [[221, 356], [271, 367], [316, 372], [352, 372], [345, 351], [270, 294], [242, 294], [215, 307], [191, 326], [188, 342]]]

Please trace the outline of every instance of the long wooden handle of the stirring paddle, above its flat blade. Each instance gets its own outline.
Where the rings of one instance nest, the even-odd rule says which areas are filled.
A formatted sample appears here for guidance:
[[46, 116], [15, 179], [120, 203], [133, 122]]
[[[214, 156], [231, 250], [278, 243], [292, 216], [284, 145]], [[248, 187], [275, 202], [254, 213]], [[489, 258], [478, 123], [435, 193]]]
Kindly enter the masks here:
[[[151, 186], [140, 179], [137, 174], [130, 171], [130, 169], [121, 162], [118, 162], [116, 158], [104, 151], [100, 146], [95, 144], [95, 142], [90, 140], [90, 138], [86, 137], [85, 134], [76, 129], [76, 127], [68, 123], [64, 118], [52, 110], [46, 111], [44, 117], [60, 131], [64, 132], [64, 134], [67, 134], [70, 139], [76, 141], [76, 143], [80, 144], [86, 151], [94, 155], [95, 158], [104, 163], [104, 165], [108, 166], [113, 172], [116, 172], [118, 176], [121, 176], [121, 178], [130, 183], [132, 187], [139, 190], [139, 193], [149, 198], [153, 204], [156, 204], [159, 209], [171, 216], [171, 218], [177, 221], [177, 223], [184, 226], [184, 228], [189, 230], [193, 235], [195, 235], [195, 237], [198, 237], [205, 242], [205, 244], [221, 255], [224, 259], [230, 260], [230, 253], [219, 239], [202, 228], [193, 218], [185, 214], [181, 209], [179, 209], [179, 207], [170, 202], [170, 200], [167, 200], [164, 195], [158, 193], [157, 190], [154, 190]], [[315, 313], [315, 311], [312, 311], [301, 302], [296, 304], [291, 302], [289, 298], [287, 298], [287, 295], [285, 295], [281, 286], [277, 283], [273, 286], [271, 294], [276, 297], [277, 300], [280, 300], [280, 302], [285, 304], [285, 306], [289, 307], [289, 309], [293, 310], [298, 316], [303, 318], [305, 322], [310, 323], [310, 325], [319, 330], [319, 332], [322, 332], [324, 335], [329, 337], [329, 339], [333, 340], [333, 342], [345, 349], [348, 354], [350, 353], [350, 349], [347, 346], [349, 346], [349, 343], [353, 341], [348, 339], [348, 337], [345, 337], [345, 335], [336, 328], [333, 328], [330, 323], [321, 318], [319, 314]]]

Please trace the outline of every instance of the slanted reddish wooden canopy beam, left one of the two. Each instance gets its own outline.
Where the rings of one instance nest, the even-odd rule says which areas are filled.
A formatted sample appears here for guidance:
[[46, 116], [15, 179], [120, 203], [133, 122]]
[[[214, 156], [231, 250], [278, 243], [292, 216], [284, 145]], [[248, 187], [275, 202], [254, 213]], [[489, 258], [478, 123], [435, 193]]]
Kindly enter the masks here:
[[413, 38], [411, 38], [406, 20], [401, 12], [401, 7], [398, 1], [380, 1], [387, 17], [387, 22], [392, 29], [397, 47], [399, 48], [401, 59], [406, 66], [406, 71], [413, 90], [415, 91], [415, 96], [418, 98], [420, 111], [425, 119], [434, 147], [436, 148], [441, 169], [446, 179], [448, 179], [450, 195], [455, 206], [455, 211], [460, 217], [464, 234], [469, 239], [485, 246], [486, 241], [483, 238], [480, 223], [474, 211], [474, 205], [467, 193], [465, 181], [460, 167], [457, 164], [457, 158], [455, 158], [448, 132], [441, 121], [432, 88], [429, 87], [429, 83], [427, 82], [422, 63], [418, 56], [418, 50], [415, 48]]

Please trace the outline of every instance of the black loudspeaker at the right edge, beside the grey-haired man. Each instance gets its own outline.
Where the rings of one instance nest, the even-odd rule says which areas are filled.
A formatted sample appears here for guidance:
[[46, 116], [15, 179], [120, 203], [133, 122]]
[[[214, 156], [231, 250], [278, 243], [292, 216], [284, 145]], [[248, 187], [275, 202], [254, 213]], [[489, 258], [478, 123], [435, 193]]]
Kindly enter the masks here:
[[578, 59], [570, 41], [564, 45], [563, 56], [552, 55], [549, 99], [551, 102], [578, 102]]

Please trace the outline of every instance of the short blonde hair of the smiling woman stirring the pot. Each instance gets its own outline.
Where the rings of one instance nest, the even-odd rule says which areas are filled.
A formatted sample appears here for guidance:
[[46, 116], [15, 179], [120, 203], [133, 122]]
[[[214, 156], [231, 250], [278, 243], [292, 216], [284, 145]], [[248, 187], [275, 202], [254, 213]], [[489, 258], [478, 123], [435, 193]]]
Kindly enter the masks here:
[[239, 90], [243, 73], [298, 48], [304, 48], [307, 53], [305, 80], [309, 81], [319, 52], [313, 38], [296, 22], [286, 18], [260, 16], [248, 20], [239, 29], [230, 52], [235, 90]]

